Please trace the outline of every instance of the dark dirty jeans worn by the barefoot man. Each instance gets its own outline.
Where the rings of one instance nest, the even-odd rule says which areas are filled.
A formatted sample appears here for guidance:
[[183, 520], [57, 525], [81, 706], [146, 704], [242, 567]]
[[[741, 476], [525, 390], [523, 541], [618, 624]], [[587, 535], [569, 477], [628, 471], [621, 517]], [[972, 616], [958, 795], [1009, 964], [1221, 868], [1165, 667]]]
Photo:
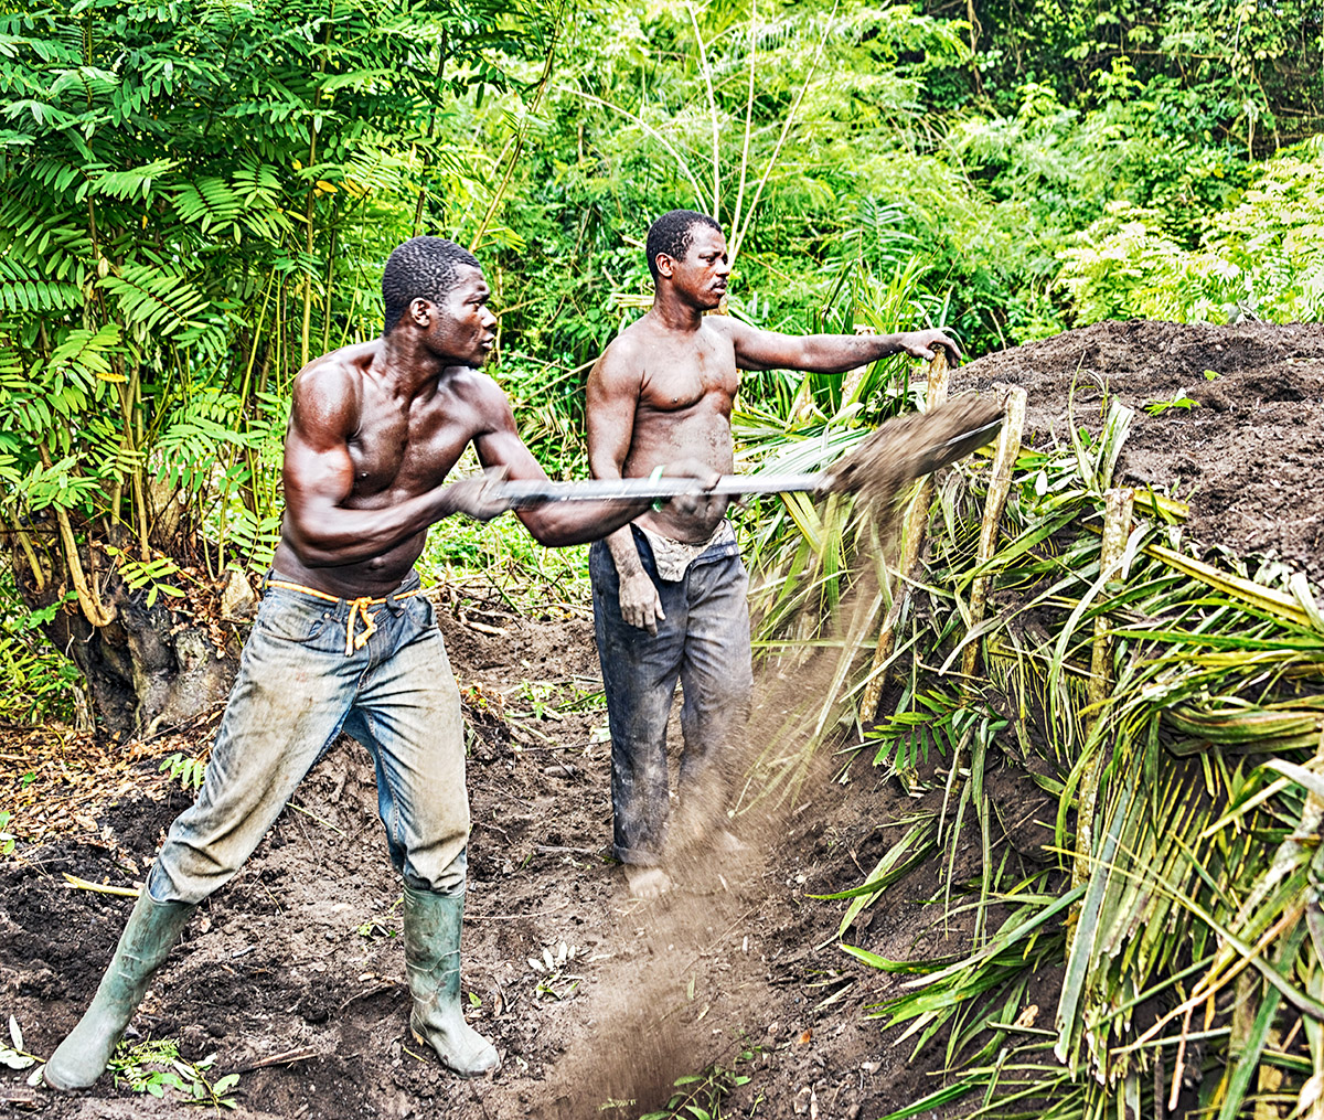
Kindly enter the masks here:
[[666, 614], [655, 637], [621, 617], [605, 541], [589, 549], [589, 575], [612, 731], [613, 851], [622, 863], [654, 866], [666, 839], [666, 724], [678, 679], [685, 695], [678, 809], [696, 831], [724, 816], [730, 748], [744, 732], [752, 691], [749, 579], [735, 541], [714, 544], [678, 581], [658, 576], [637, 528], [634, 545]]

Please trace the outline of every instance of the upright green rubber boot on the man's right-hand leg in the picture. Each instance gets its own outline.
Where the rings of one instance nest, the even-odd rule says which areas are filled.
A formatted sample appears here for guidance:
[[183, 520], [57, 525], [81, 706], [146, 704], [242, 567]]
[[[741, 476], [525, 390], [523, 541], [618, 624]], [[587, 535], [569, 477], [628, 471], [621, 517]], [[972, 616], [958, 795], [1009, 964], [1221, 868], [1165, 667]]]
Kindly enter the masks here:
[[462, 1078], [500, 1064], [496, 1047], [465, 1022], [459, 1003], [459, 931], [465, 896], [405, 884], [405, 972], [413, 1010], [409, 1029]]

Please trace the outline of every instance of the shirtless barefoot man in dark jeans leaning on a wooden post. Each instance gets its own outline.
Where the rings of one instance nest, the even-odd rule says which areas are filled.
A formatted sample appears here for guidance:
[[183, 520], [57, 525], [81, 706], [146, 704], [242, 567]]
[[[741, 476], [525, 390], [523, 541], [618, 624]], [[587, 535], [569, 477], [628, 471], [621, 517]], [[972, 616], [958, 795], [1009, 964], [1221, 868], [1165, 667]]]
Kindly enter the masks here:
[[[842, 373], [904, 351], [960, 351], [941, 331], [790, 335], [715, 310], [731, 266], [722, 226], [673, 210], [649, 229], [651, 310], [612, 342], [588, 381], [589, 466], [596, 478], [637, 478], [698, 458], [733, 467], [731, 405], [741, 369]], [[679, 809], [687, 835], [735, 845], [723, 827], [722, 755], [749, 708], [748, 579], [726, 511], [711, 496], [638, 518], [589, 552], [593, 616], [612, 731], [617, 859], [634, 895], [666, 891], [666, 724], [675, 682], [685, 694]], [[714, 765], [718, 763], [718, 765]]]

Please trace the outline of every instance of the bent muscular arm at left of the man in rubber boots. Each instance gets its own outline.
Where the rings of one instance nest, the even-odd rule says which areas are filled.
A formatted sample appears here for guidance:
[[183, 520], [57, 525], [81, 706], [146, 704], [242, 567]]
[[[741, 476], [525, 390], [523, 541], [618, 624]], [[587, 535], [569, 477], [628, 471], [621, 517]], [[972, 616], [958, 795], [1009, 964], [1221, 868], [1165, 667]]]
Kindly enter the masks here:
[[507, 508], [483, 494], [483, 479], [437, 486], [381, 510], [355, 510], [350, 436], [359, 402], [336, 365], [307, 371], [294, 385], [285, 441], [286, 534], [310, 568], [359, 564], [383, 556], [442, 518], [462, 511], [481, 520]]

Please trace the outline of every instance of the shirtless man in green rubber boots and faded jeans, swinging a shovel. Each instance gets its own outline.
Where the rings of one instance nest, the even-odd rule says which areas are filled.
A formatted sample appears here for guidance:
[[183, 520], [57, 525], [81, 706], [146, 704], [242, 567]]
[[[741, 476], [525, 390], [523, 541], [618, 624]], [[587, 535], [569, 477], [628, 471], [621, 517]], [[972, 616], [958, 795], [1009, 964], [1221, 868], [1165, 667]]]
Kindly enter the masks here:
[[[413, 564], [442, 518], [487, 520], [507, 508], [482, 478], [445, 483], [467, 443], [511, 478], [547, 475], [504, 395], [478, 372], [496, 322], [478, 261], [450, 241], [416, 237], [391, 254], [381, 291], [383, 336], [319, 357], [295, 379], [281, 543], [207, 778], [171, 826], [91, 1007], [46, 1063], [56, 1088], [102, 1074], [189, 915], [238, 871], [340, 731], [372, 755], [387, 846], [404, 878], [409, 1026], [462, 1076], [498, 1066], [459, 1002], [465, 736]], [[564, 503], [519, 516], [543, 544], [560, 545], [600, 537], [642, 508]]]

